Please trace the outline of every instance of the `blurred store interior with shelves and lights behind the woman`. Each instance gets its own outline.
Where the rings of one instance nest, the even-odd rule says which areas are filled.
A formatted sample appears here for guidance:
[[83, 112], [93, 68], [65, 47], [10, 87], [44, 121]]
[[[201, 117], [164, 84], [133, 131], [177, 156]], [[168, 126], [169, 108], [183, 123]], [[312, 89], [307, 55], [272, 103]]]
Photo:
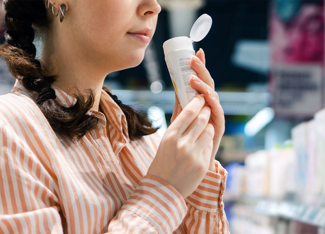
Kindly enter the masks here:
[[[325, 233], [324, 1], [158, 2], [144, 60], [108, 74], [104, 84], [161, 125], [163, 136], [175, 94], [162, 44], [189, 36], [195, 20], [210, 15], [212, 28], [194, 48], [205, 51], [225, 112], [215, 158], [228, 171], [223, 199], [231, 233]], [[14, 82], [0, 60], [0, 94]]]

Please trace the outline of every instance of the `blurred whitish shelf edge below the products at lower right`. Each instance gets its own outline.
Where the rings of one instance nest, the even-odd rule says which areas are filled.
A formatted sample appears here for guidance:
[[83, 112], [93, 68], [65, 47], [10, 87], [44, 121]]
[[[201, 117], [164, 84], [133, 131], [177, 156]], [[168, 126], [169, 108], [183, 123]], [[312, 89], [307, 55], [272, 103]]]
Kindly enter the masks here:
[[277, 216], [325, 228], [324, 206], [298, 204], [290, 201], [256, 200], [249, 198], [232, 198], [228, 201], [247, 204], [253, 208], [254, 212], [259, 214]]

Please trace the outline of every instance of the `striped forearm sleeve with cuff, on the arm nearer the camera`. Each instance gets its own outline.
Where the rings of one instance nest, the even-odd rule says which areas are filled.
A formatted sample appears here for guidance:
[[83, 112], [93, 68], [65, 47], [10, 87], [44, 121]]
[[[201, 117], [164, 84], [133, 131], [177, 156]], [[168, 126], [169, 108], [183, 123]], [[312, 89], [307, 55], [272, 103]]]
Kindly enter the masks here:
[[145, 175], [108, 226], [108, 233], [172, 233], [187, 212], [181, 194], [154, 175]]

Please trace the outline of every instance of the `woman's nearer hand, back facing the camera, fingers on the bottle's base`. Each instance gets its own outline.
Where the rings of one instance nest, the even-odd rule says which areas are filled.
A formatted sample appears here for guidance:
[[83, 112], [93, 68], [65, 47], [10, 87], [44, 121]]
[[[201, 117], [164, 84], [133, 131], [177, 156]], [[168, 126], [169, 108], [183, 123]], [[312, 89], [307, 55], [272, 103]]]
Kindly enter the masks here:
[[162, 178], [186, 198], [209, 168], [215, 134], [208, 123], [211, 110], [203, 94], [196, 95], [181, 110], [179, 105], [147, 174]]

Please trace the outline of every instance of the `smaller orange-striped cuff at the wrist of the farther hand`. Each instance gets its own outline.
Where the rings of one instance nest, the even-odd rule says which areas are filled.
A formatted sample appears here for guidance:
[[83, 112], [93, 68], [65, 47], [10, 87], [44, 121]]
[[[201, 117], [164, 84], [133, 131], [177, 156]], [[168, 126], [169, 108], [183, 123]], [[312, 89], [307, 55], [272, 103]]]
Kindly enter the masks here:
[[226, 188], [228, 172], [217, 160], [214, 160], [214, 165], [216, 173], [208, 171], [199, 186], [185, 199], [197, 210], [217, 212], [218, 209], [224, 209], [222, 195]]

